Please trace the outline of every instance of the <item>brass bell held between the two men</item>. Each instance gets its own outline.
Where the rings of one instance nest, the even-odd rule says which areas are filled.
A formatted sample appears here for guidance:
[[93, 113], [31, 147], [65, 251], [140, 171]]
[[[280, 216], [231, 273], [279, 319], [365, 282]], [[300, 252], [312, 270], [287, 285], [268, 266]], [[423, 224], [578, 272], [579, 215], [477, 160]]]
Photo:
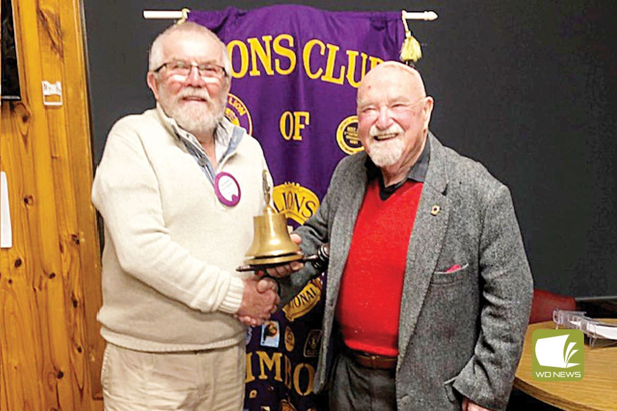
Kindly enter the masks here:
[[263, 170], [263, 197], [266, 206], [263, 215], [253, 218], [253, 243], [246, 252], [244, 264], [254, 267], [275, 266], [304, 258], [300, 247], [292, 242], [287, 230], [287, 219], [270, 206], [268, 172]]

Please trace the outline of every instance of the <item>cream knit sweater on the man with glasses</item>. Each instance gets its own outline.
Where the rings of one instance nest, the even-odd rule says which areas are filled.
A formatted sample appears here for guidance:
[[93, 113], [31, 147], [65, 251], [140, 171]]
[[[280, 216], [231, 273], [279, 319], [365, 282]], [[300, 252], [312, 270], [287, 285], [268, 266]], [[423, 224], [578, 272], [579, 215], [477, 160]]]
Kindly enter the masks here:
[[217, 169], [240, 185], [238, 205], [225, 206], [162, 113], [147, 110], [114, 125], [92, 190], [105, 221], [98, 319], [107, 341], [185, 351], [242, 340], [246, 327], [231, 315], [244, 291], [235, 267], [263, 210], [266, 167], [259, 142], [244, 133]]

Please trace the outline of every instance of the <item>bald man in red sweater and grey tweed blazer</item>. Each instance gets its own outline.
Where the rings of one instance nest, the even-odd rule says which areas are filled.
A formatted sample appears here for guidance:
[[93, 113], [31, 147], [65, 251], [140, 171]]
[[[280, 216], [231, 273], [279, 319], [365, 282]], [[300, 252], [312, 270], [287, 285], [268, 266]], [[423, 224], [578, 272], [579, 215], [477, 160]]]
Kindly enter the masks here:
[[[314, 385], [330, 410], [507, 405], [531, 272], [509, 190], [429, 132], [432, 110], [418, 71], [373, 68], [357, 96], [366, 153], [293, 235], [306, 254], [330, 244]], [[298, 268], [269, 270], [283, 303], [318, 274]]]

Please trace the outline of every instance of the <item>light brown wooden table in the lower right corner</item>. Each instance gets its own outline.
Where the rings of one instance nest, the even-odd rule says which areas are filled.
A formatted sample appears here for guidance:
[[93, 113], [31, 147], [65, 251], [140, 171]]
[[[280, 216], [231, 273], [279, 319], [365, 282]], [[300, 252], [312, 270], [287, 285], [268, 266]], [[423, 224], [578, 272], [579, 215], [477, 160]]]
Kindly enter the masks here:
[[[617, 319], [603, 321], [617, 323]], [[617, 346], [590, 348], [586, 344], [580, 381], [536, 381], [531, 374], [532, 334], [544, 328], [555, 329], [555, 324], [547, 321], [527, 328], [514, 386], [562, 410], [617, 411]]]

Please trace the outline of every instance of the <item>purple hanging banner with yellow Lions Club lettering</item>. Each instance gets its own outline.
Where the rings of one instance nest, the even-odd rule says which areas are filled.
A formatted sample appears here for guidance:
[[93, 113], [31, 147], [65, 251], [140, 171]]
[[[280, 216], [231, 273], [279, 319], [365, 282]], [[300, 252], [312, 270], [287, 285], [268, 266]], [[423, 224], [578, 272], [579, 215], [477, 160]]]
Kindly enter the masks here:
[[[232, 62], [226, 115], [262, 144], [273, 201], [291, 224], [317, 210], [334, 167], [362, 150], [355, 94], [370, 68], [397, 59], [399, 12], [326, 12], [305, 6], [191, 11], [227, 44]], [[310, 393], [321, 343], [325, 276], [310, 282], [247, 345], [245, 408], [327, 409]]]

